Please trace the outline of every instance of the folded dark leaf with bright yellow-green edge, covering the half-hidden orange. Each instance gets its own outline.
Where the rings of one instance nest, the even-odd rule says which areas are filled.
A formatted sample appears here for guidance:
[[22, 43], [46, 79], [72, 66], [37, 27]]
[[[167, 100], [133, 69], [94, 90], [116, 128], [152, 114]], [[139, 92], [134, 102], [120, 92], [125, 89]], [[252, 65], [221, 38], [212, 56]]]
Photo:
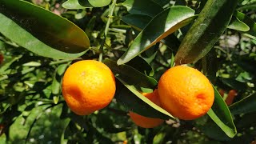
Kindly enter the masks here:
[[131, 110], [134, 113], [150, 118], [174, 118], [166, 110], [163, 110], [161, 107], [154, 104], [154, 102], [151, 102], [148, 98], [140, 94], [133, 86], [122, 81], [119, 76], [116, 76], [116, 78], [118, 78], [120, 82], [117, 82], [117, 91], [114, 98], [125, 106], [126, 110]]

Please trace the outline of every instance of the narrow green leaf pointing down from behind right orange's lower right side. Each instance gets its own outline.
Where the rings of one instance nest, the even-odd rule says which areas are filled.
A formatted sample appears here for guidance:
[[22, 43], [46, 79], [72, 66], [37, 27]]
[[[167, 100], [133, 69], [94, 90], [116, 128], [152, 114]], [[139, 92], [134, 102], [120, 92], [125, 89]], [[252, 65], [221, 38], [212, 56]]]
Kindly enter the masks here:
[[234, 126], [230, 110], [214, 87], [214, 105], [207, 113], [210, 118], [225, 132], [230, 138], [234, 138], [237, 134], [236, 127]]

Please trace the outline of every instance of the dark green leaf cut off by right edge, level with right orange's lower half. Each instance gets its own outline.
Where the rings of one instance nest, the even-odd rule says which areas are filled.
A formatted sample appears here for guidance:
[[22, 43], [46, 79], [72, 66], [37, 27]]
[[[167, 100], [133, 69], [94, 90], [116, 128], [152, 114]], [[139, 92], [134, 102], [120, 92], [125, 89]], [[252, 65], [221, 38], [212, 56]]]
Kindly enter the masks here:
[[256, 93], [233, 103], [230, 106], [232, 114], [247, 114], [256, 111]]

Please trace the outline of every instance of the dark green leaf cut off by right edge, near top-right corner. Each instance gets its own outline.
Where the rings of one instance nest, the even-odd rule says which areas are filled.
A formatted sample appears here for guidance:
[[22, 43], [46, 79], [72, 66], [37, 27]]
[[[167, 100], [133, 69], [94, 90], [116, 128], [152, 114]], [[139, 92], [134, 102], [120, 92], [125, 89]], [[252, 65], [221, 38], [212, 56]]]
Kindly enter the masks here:
[[250, 38], [256, 39], [256, 22], [254, 22], [254, 20], [252, 20], [250, 17], [246, 16], [246, 14], [242, 14], [238, 11], [234, 13], [234, 16], [250, 27], [250, 30], [244, 32], [244, 34], [248, 34], [247, 36], [249, 36]]

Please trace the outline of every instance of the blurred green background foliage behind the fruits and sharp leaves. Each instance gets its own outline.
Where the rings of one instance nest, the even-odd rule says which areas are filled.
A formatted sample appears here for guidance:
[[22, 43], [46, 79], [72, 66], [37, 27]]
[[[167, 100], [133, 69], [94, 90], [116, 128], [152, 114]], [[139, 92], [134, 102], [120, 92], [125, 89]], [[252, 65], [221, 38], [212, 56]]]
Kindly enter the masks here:
[[[205, 0], [162, 0], [159, 5], [190, 6], [194, 10]], [[194, 121], [168, 120], [154, 129], [135, 126], [126, 107], [114, 99], [110, 106], [89, 116], [70, 112], [61, 95], [60, 83], [71, 62], [99, 57], [110, 6], [66, 10], [65, 0], [31, 0], [46, 10], [74, 22], [90, 39], [91, 49], [81, 58], [58, 60], [44, 58], [11, 42], [0, 34], [0, 143], [250, 143], [256, 138], [256, 113], [233, 115], [238, 134], [228, 138], [216, 127], [210, 127], [208, 116]], [[118, 0], [103, 46], [103, 58], [119, 58], [130, 46], [138, 30], [122, 22], [128, 14]], [[237, 10], [256, 21], [256, 0], [240, 0]], [[175, 32], [182, 40], [188, 26]], [[110, 51], [110, 47], [113, 51]], [[157, 43], [141, 57], [152, 67], [147, 73], [158, 80], [173, 65], [175, 50]], [[173, 56], [171, 56], [173, 55]], [[236, 90], [234, 102], [255, 93], [256, 39], [227, 29], [214, 49], [206, 55], [207, 76], [224, 97]], [[202, 68], [202, 60], [193, 64]], [[139, 67], [139, 66], [138, 66]], [[150, 73], [151, 72], [151, 73]], [[205, 123], [209, 124], [205, 127]], [[211, 122], [212, 123], [212, 122]]]

